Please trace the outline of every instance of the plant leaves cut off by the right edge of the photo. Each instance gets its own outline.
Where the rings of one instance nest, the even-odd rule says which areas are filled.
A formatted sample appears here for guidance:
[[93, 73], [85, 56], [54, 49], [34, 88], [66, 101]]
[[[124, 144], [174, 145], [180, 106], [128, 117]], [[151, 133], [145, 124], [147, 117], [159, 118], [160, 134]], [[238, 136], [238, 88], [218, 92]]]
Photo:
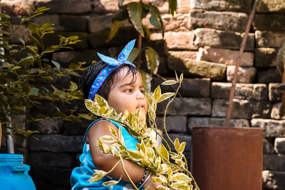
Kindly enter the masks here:
[[[282, 83], [285, 85], [285, 42], [282, 44], [280, 49], [278, 50], [277, 57], [276, 57], [277, 69], [280, 73], [282, 78]], [[285, 115], [285, 92], [282, 96], [281, 106], [280, 106], [280, 118]]]

